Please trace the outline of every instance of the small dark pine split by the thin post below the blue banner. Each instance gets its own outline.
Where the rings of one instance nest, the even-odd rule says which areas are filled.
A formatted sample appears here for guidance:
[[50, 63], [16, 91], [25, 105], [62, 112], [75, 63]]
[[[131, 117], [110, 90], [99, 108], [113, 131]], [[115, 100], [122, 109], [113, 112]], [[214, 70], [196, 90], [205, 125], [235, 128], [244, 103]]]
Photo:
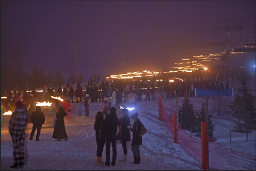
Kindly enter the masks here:
[[[197, 127], [198, 127], [198, 133], [196, 136], [201, 138], [201, 126], [202, 122], [205, 121], [205, 103], [203, 102], [201, 111], [197, 112]], [[214, 123], [211, 119], [213, 114], [208, 114], [208, 136], [213, 137], [213, 130], [214, 130]]]

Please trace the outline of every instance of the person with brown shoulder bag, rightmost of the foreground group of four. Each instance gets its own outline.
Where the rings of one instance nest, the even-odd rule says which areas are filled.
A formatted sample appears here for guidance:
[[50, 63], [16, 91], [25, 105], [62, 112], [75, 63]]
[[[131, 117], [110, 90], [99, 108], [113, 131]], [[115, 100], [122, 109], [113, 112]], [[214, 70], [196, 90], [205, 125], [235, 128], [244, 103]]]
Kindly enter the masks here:
[[142, 145], [142, 137], [139, 136], [141, 133], [141, 121], [138, 118], [138, 113], [135, 112], [131, 115], [131, 119], [134, 121], [132, 128], [127, 126], [130, 131], [132, 131], [132, 153], [134, 161], [133, 164], [141, 163], [141, 152], [140, 152], [140, 145]]

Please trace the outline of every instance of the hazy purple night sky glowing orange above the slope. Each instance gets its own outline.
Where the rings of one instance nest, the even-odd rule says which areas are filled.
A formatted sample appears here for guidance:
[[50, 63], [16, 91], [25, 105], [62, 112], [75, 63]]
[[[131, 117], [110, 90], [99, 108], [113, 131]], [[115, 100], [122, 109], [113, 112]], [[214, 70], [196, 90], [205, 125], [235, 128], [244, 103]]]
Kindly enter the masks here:
[[[1, 62], [71, 68], [77, 11], [76, 56], [80, 69], [169, 70], [189, 55], [218, 53], [226, 47], [193, 48], [225, 30], [213, 20], [243, 20], [231, 42], [255, 40], [256, 1], [1, 1]], [[250, 28], [254, 26], [254, 28]], [[240, 34], [241, 33], [241, 34]], [[255, 52], [243, 58], [255, 59]], [[125, 64], [124, 64], [125, 63]], [[140, 70], [141, 71], [141, 70]]]

